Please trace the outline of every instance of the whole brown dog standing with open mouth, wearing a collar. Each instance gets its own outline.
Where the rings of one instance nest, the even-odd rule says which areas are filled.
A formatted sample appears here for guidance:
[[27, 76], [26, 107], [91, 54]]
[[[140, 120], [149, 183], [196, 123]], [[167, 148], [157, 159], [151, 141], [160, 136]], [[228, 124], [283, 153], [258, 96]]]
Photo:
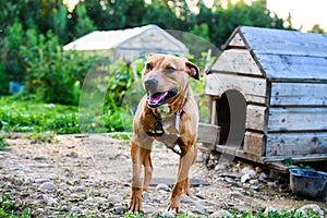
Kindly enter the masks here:
[[152, 179], [150, 152], [155, 140], [164, 142], [180, 155], [177, 182], [171, 191], [168, 210], [179, 211], [183, 193], [192, 197], [189, 170], [197, 153], [198, 109], [189, 84], [190, 77], [198, 80], [198, 68], [190, 61], [174, 56], [148, 56], [142, 72], [142, 82], [147, 95], [137, 107], [131, 140], [131, 211], [142, 209], [142, 192], [148, 190]]

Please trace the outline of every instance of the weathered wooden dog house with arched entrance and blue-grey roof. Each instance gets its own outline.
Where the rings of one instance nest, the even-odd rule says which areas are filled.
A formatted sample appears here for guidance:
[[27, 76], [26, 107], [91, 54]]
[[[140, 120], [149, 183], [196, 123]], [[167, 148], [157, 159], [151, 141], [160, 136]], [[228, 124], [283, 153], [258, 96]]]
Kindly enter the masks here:
[[257, 162], [327, 160], [327, 35], [241, 26], [209, 69], [215, 149]]

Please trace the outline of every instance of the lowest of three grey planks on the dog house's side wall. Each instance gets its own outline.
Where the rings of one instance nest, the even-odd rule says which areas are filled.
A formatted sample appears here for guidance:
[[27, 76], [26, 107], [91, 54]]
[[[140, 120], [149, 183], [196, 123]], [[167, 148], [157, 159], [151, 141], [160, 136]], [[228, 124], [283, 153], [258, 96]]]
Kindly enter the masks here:
[[266, 156], [296, 156], [327, 153], [327, 132], [268, 133]]

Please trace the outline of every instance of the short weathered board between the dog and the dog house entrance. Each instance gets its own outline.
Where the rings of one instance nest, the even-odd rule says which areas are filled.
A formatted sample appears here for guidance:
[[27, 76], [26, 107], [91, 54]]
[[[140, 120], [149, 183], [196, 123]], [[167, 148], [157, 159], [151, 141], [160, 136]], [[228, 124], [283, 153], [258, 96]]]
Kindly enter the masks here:
[[219, 143], [220, 128], [214, 124], [198, 123], [197, 142], [207, 146], [215, 146]]

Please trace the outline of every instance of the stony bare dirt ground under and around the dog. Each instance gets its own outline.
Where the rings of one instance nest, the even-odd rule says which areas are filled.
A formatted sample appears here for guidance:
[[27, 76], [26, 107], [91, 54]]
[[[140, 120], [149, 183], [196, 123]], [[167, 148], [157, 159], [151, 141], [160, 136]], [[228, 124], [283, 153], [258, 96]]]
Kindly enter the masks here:
[[[8, 142], [8, 149], [0, 152], [0, 193], [31, 208], [33, 216], [121, 217], [126, 213], [131, 181], [128, 141], [92, 134], [57, 135], [51, 143], [12, 135]], [[284, 179], [269, 178], [268, 171], [256, 166], [247, 166], [256, 174], [241, 182], [245, 165], [233, 161], [209, 170], [202, 157], [199, 153], [191, 171], [195, 199], [183, 196], [181, 201], [181, 210], [191, 217], [208, 217], [221, 209], [240, 214], [308, 204], [327, 211], [326, 201], [299, 197], [289, 191]], [[153, 182], [143, 196], [146, 216], [165, 211], [178, 159], [178, 155], [156, 144]]]

